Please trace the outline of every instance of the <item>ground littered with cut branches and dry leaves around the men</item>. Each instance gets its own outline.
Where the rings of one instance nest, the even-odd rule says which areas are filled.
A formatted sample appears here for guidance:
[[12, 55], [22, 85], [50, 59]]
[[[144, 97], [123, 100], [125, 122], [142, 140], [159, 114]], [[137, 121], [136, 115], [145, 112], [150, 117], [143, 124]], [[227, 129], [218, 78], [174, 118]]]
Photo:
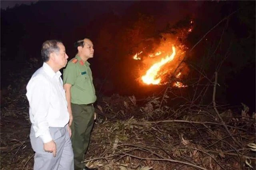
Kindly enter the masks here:
[[[15, 97], [10, 94], [1, 104], [0, 170], [32, 170], [24, 88], [10, 92]], [[255, 151], [250, 148], [255, 147], [255, 113], [250, 118], [248, 109], [242, 111], [243, 117], [231, 110], [222, 112], [231, 128], [229, 136], [212, 116], [213, 109], [171, 114], [153, 109], [154, 102], [159, 101], [138, 107], [134, 97], [103, 98], [95, 106], [98, 118], [84, 163], [98, 170], [255, 170]], [[232, 141], [233, 136], [241, 146]]]

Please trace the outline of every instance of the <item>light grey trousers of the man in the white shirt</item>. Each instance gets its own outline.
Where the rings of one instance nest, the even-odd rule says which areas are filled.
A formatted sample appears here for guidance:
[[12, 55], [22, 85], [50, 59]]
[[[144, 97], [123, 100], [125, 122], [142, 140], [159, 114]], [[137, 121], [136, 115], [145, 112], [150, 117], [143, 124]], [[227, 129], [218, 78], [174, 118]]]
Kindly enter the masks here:
[[56, 157], [53, 157], [52, 153], [44, 151], [42, 139], [35, 137], [35, 131], [31, 126], [30, 143], [36, 152], [34, 170], [74, 170], [74, 154], [67, 125], [65, 127], [50, 127], [49, 129], [52, 139], [56, 143]]

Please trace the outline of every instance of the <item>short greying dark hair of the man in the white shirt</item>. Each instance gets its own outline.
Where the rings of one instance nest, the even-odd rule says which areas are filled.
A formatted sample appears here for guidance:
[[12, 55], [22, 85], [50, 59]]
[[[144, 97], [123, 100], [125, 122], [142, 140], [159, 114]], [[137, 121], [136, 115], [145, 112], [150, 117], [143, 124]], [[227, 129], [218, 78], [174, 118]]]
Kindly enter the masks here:
[[41, 49], [41, 55], [44, 62], [49, 61], [50, 59], [50, 53], [60, 52], [60, 48], [58, 47], [58, 44], [63, 44], [60, 40], [47, 40], [43, 43], [42, 49]]

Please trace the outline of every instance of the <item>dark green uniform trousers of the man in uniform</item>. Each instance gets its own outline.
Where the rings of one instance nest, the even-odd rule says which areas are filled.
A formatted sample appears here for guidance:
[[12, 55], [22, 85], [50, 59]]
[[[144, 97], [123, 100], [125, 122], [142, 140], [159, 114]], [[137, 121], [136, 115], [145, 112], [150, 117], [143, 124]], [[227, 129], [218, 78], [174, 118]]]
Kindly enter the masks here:
[[94, 124], [94, 106], [72, 104], [73, 122], [71, 124], [71, 141], [74, 152], [74, 165], [75, 170], [82, 170], [85, 166], [82, 163], [84, 161], [84, 154], [87, 151], [90, 133]]

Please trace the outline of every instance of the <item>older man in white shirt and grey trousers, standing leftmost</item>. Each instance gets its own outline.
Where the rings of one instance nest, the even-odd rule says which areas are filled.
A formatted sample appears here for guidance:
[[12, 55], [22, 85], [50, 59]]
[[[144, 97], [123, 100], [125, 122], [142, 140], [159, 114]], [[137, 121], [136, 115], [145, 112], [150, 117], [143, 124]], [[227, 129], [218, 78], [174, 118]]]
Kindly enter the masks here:
[[45, 41], [41, 55], [43, 66], [26, 87], [34, 170], [74, 170], [68, 105], [59, 71], [66, 66], [68, 55], [63, 43], [57, 40]]

